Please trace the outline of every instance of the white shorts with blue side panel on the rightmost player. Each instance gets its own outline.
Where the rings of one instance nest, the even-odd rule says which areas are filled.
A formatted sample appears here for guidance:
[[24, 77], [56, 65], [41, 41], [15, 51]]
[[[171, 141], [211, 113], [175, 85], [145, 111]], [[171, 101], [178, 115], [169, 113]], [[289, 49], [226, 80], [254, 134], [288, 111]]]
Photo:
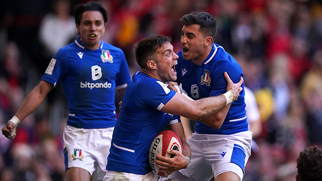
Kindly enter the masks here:
[[[191, 159], [187, 168], [179, 170], [195, 180], [210, 180], [227, 171], [244, 177], [244, 168], [251, 156], [252, 132], [232, 135], [193, 133], [188, 139]], [[175, 174], [174, 174], [175, 175]], [[172, 178], [172, 175], [169, 175]], [[180, 178], [177, 178], [180, 180]]]

